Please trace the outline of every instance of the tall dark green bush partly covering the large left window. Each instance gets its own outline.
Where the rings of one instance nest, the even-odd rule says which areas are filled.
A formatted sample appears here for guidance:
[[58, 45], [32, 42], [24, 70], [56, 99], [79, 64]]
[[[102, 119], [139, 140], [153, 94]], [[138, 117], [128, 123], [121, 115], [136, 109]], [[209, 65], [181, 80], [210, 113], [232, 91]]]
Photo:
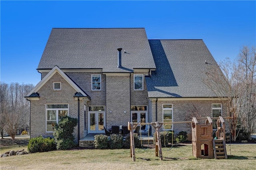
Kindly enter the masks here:
[[77, 118], [65, 116], [55, 125], [53, 136], [57, 149], [67, 150], [76, 146], [73, 132], [77, 124]]

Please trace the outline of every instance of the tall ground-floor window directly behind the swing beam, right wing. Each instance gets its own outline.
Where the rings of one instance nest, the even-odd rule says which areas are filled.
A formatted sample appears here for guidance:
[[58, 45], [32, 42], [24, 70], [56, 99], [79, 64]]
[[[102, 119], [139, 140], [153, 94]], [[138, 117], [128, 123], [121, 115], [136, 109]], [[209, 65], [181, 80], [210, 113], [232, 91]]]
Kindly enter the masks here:
[[[163, 104], [163, 122], [172, 122], [172, 104]], [[164, 130], [172, 130], [172, 124], [164, 124]]]

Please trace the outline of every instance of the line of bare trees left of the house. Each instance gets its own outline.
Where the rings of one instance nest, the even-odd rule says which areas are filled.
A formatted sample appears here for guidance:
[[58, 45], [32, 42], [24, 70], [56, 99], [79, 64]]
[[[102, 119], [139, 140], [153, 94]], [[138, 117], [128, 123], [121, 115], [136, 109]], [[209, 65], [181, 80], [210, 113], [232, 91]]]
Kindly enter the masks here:
[[32, 84], [4, 83], [0, 84], [0, 134], [3, 138], [4, 131], [14, 141], [18, 130], [29, 130], [30, 103], [26, 96], [32, 89]]

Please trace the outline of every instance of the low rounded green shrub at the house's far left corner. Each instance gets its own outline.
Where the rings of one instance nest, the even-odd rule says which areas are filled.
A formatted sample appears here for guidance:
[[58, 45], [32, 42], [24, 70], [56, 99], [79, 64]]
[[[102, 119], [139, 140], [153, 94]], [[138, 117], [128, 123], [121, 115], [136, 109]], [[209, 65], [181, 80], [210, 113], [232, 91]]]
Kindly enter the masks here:
[[48, 152], [51, 150], [56, 150], [56, 144], [52, 138], [44, 138], [42, 136], [31, 138], [28, 141], [28, 152]]

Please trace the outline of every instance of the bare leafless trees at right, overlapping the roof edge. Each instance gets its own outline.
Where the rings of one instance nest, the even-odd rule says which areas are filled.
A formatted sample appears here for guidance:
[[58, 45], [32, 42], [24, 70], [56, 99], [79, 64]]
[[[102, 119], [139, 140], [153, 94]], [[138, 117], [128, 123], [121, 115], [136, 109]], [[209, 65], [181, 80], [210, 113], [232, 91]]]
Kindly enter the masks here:
[[[241, 128], [248, 123], [250, 132], [255, 126], [255, 114], [252, 114], [253, 109], [249, 109], [255, 108], [255, 98], [253, 100], [256, 67], [254, 47], [252, 47], [252, 51], [254, 53], [244, 46], [236, 61], [232, 62], [230, 59], [226, 59], [219, 65], [208, 65], [206, 78], [203, 80], [223, 102], [227, 103], [228, 116], [233, 118], [229, 121], [233, 141], [236, 141], [240, 131], [237, 129], [238, 123], [242, 123]], [[253, 101], [254, 104], [252, 104]]]

